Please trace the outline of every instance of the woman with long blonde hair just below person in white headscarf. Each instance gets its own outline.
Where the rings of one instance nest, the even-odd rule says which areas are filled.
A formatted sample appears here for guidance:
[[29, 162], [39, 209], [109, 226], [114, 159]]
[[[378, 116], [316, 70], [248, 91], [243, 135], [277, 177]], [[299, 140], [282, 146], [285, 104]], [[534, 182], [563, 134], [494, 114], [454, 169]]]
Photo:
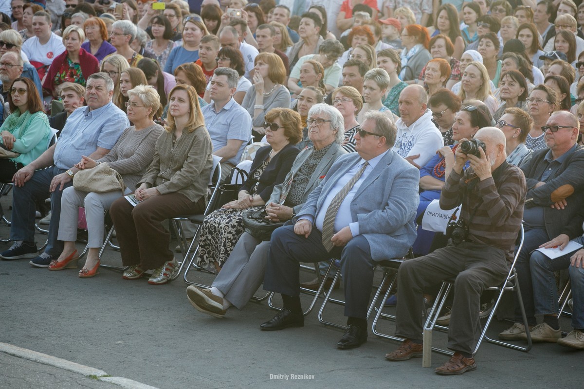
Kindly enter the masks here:
[[458, 92], [458, 97], [463, 100], [463, 104], [471, 100], [483, 101], [489, 108], [491, 115], [499, 107], [499, 103], [491, 91], [489, 73], [486, 71], [485, 65], [477, 61], [472, 61], [464, 69], [462, 87]]

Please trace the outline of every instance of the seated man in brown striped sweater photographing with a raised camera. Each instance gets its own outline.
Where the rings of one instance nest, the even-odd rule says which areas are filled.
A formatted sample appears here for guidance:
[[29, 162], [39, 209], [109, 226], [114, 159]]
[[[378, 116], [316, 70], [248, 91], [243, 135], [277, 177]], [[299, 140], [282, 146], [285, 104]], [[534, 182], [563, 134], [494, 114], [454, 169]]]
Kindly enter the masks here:
[[[505, 161], [505, 134], [499, 128], [484, 127], [474, 138], [485, 147], [479, 147], [478, 156], [456, 150], [453, 169], [440, 193], [442, 209], [462, 204], [458, 222], [464, 223], [460, 227], [464, 237], [399, 266], [395, 334], [405, 340], [385, 355], [393, 362], [422, 356], [422, 294], [444, 279], [456, 278], [448, 331], [448, 348], [454, 355], [434, 370], [442, 375], [477, 369], [473, 357], [481, 334], [481, 293], [499, 285], [509, 272], [527, 191], [522, 171]], [[470, 168], [464, 169], [467, 162]]]

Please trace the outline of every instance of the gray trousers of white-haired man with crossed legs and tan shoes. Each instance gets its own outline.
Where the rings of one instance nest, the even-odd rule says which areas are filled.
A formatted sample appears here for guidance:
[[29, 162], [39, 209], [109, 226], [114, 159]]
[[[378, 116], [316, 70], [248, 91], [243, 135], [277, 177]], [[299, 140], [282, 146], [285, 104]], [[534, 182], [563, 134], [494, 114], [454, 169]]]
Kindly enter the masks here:
[[269, 248], [269, 241], [244, 232], [211, 286], [221, 290], [237, 309], [242, 309], [262, 285]]

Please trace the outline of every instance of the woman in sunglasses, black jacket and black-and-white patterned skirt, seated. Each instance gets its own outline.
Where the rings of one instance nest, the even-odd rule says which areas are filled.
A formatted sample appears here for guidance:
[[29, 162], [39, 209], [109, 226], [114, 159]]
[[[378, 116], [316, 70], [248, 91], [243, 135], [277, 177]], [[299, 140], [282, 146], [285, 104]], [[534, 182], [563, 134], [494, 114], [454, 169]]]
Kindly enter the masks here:
[[238, 199], [223, 205], [203, 222], [197, 265], [208, 271], [221, 270], [244, 233], [242, 213], [263, 209], [274, 186], [284, 181], [300, 152], [294, 146], [302, 139], [302, 122], [296, 111], [273, 108], [265, 116], [264, 127], [270, 145], [256, 152]]

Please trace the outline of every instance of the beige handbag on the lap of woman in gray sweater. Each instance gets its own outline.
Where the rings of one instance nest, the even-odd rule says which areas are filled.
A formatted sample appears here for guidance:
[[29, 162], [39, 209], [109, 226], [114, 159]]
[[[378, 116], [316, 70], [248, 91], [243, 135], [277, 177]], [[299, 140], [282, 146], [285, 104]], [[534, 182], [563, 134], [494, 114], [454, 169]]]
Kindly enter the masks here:
[[100, 163], [93, 169], [79, 170], [73, 176], [73, 187], [82, 192], [112, 192], [124, 191], [126, 185], [120, 173], [107, 166], [107, 163]]

